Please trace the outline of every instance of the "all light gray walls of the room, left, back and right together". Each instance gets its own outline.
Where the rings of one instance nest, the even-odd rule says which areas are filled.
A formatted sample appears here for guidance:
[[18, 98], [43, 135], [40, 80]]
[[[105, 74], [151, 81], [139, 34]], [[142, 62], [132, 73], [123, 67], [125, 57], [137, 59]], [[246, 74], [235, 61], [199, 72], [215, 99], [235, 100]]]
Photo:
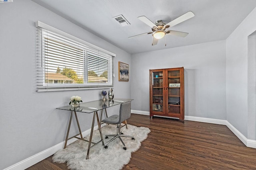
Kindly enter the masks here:
[[[36, 92], [38, 20], [116, 53], [115, 98], [133, 98], [133, 110], [149, 111], [149, 69], [184, 66], [185, 115], [227, 119], [244, 136], [255, 140], [255, 104], [248, 102], [248, 88], [255, 88], [248, 78], [255, 72], [248, 70], [252, 60], [247, 57], [247, 36], [256, 30], [256, 9], [226, 42], [138, 53], [132, 57], [30, 0], [1, 3], [0, 12], [0, 169], [64, 141], [69, 115], [55, 108], [67, 105], [70, 96], [79, 95], [84, 102], [101, 98], [101, 90]], [[129, 82], [118, 81], [118, 61], [130, 65]], [[255, 99], [255, 94], [252, 98]], [[110, 112], [117, 110], [112, 108]], [[78, 116], [82, 131], [89, 129], [92, 115]], [[70, 133], [77, 131], [72, 128]]]

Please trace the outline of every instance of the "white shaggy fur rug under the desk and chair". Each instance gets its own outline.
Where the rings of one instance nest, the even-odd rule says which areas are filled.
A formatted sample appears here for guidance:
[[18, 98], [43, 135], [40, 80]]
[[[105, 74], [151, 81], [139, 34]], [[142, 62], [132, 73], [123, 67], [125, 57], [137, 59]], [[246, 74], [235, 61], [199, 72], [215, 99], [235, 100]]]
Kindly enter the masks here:
[[[125, 164], [128, 164], [132, 152], [140, 148], [141, 142], [148, 137], [150, 129], [147, 127], [136, 127], [128, 125], [121, 128], [124, 135], [134, 136], [135, 140], [129, 137], [122, 137], [126, 150], [119, 139], [108, 144], [108, 149], [105, 149], [102, 143], [90, 149], [89, 159], [86, 159], [88, 142], [77, 140], [68, 145], [66, 149], [58, 150], [52, 157], [53, 162], [64, 163], [66, 162], [68, 168], [72, 170], [120, 170]], [[102, 135], [104, 143], [112, 139], [109, 137], [105, 139], [105, 135], [116, 134], [116, 125], [106, 125], [102, 127]], [[89, 140], [89, 136], [84, 139]], [[100, 132], [95, 130], [92, 137], [93, 142], [100, 141]]]

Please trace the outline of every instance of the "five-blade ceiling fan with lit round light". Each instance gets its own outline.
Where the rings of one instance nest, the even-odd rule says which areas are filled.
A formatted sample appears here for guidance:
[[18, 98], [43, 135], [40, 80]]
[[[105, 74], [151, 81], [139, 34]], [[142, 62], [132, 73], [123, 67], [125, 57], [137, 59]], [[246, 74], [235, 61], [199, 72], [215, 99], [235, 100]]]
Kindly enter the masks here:
[[152, 34], [152, 36], [153, 36], [152, 45], [156, 45], [158, 42], [158, 39], [163, 38], [165, 35], [176, 35], [179, 37], [186, 37], [188, 35], [188, 33], [180, 32], [180, 31], [173, 31], [173, 30], [166, 30], [166, 29], [169, 27], [172, 27], [174, 25], [177, 25], [178, 23], [186, 21], [194, 16], [195, 16], [195, 14], [193, 12], [189, 11], [189, 12], [183, 14], [182, 16], [179, 16], [175, 20], [170, 21], [169, 23], [163, 23], [162, 20], [157, 20], [156, 24], [154, 24], [152, 21], [150, 21], [145, 16], [140, 16], [140, 17], [138, 17], [138, 19], [141, 20], [142, 22], [146, 23], [147, 25], [149, 25], [153, 32], [142, 33], [142, 34], [134, 35], [134, 36], [128, 37], [128, 38], [139, 37], [139, 36], [145, 35], [145, 34]]

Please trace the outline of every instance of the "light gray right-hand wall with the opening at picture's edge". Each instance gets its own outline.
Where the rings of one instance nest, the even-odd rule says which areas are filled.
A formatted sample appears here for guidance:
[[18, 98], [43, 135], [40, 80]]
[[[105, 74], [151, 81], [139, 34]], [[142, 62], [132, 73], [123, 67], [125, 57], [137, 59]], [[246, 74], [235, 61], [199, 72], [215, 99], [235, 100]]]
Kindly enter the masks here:
[[[252, 111], [248, 84], [253, 70], [248, 70], [248, 36], [256, 30], [256, 8], [242, 21], [226, 40], [226, 95], [227, 121], [231, 123], [246, 138], [255, 140], [255, 112]], [[249, 74], [248, 74], [249, 73]], [[248, 97], [249, 101], [248, 101]], [[254, 97], [255, 98], [255, 97]], [[248, 108], [249, 104], [249, 108]], [[253, 130], [252, 130], [253, 129]]]

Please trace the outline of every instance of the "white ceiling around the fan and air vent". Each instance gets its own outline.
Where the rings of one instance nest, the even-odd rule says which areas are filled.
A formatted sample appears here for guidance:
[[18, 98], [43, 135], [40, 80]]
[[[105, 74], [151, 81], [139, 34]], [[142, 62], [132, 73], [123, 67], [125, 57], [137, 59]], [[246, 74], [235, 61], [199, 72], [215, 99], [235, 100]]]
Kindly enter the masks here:
[[[131, 54], [224, 40], [256, 7], [256, 0], [33, 1]], [[151, 34], [128, 39], [151, 31], [139, 16], [146, 16], [154, 23], [156, 20], [168, 23], [188, 11], [195, 16], [169, 28], [189, 33], [184, 38], [166, 35], [154, 46]], [[122, 27], [113, 19], [120, 14], [130, 25]]]

